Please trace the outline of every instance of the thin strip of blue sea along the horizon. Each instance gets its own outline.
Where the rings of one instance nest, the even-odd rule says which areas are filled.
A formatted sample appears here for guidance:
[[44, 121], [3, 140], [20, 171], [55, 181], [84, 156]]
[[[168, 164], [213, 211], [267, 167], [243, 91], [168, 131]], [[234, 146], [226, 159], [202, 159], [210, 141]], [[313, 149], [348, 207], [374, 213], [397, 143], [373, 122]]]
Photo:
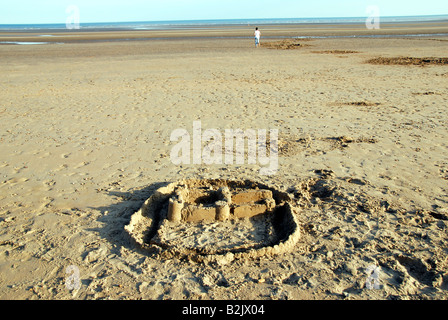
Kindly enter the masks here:
[[[166, 20], [166, 21], [128, 21], [128, 22], [82, 22], [79, 30], [164, 30], [184, 28], [209, 28], [243, 25], [276, 25], [276, 24], [361, 24], [365, 17], [332, 17], [332, 18], [269, 18], [269, 19], [213, 19], [213, 20]], [[380, 17], [382, 23], [418, 23], [448, 21], [448, 14], [426, 16], [390, 16]], [[1, 24], [1, 31], [41, 31], [66, 30], [66, 23], [46, 24]]]

